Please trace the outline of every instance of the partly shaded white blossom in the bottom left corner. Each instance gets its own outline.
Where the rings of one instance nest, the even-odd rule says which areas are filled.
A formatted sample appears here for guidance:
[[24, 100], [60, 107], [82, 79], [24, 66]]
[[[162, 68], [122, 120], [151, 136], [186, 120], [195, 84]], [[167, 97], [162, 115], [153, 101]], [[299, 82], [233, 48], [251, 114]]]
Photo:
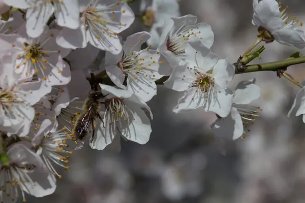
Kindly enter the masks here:
[[[34, 170], [29, 171], [28, 165], [34, 166]], [[14, 144], [1, 154], [0, 167], [1, 202], [16, 202], [19, 191], [23, 202], [26, 201], [25, 193], [43, 197], [55, 191], [55, 180], [39, 155], [22, 144]]]

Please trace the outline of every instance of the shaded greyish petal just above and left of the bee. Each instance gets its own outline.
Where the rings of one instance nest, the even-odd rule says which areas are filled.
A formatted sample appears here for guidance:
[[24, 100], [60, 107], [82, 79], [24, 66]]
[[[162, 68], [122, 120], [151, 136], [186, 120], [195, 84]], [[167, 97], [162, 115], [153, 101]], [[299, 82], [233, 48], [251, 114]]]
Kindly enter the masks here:
[[82, 70], [71, 71], [71, 81], [68, 84], [70, 98], [85, 99], [91, 89], [89, 81]]

